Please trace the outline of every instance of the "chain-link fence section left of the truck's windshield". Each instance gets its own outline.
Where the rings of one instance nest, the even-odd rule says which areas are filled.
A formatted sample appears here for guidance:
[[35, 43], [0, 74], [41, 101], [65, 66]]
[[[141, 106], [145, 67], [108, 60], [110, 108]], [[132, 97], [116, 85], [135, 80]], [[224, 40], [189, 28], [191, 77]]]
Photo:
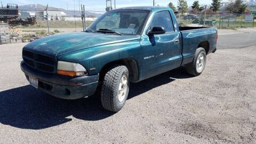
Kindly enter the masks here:
[[103, 12], [0, 8], [0, 44], [34, 41], [44, 36], [83, 31]]

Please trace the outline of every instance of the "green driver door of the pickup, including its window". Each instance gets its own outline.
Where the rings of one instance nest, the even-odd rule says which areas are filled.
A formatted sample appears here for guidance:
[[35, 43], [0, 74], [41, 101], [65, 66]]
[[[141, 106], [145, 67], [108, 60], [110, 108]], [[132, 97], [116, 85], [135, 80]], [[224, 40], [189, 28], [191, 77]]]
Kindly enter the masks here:
[[181, 36], [174, 30], [170, 12], [155, 13], [150, 27], [154, 26], [164, 27], [166, 33], [141, 38], [143, 79], [177, 68], [182, 61]]

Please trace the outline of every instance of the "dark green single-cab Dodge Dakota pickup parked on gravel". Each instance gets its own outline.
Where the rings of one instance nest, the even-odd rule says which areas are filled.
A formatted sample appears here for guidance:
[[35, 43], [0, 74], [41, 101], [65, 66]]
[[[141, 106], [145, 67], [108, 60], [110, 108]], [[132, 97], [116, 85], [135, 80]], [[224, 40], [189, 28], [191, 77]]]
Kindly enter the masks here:
[[216, 28], [179, 27], [167, 7], [126, 7], [102, 14], [85, 31], [27, 44], [20, 65], [31, 85], [54, 97], [99, 91], [103, 108], [119, 111], [130, 82], [180, 66], [200, 75], [217, 39]]

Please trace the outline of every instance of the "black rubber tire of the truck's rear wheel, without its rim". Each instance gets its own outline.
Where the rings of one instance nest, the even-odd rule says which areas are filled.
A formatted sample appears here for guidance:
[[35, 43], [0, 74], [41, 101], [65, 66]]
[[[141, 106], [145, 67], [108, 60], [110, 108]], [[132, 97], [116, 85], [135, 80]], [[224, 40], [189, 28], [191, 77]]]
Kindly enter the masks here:
[[[199, 55], [201, 53], [204, 55], [204, 64], [203, 64], [203, 68], [201, 69], [202, 71], [201, 70], [198, 71], [196, 63], [197, 63], [197, 58], [199, 57]], [[206, 64], [206, 52], [203, 47], [199, 47], [196, 49], [196, 53], [195, 53], [195, 57], [194, 57], [193, 61], [191, 63], [189, 63], [186, 67], [188, 74], [193, 75], [193, 76], [198, 76], [198, 75], [202, 74], [202, 72], [204, 71], [205, 64]]]

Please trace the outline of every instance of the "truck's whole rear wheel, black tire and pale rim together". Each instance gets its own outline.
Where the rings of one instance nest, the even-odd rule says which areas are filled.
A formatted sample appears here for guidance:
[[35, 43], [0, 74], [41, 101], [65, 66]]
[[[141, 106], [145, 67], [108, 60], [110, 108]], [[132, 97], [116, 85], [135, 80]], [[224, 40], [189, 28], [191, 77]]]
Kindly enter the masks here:
[[196, 49], [195, 57], [191, 63], [187, 66], [187, 72], [190, 75], [198, 76], [200, 75], [206, 64], [206, 52], [204, 48], [199, 47]]

